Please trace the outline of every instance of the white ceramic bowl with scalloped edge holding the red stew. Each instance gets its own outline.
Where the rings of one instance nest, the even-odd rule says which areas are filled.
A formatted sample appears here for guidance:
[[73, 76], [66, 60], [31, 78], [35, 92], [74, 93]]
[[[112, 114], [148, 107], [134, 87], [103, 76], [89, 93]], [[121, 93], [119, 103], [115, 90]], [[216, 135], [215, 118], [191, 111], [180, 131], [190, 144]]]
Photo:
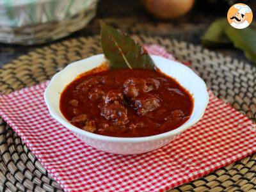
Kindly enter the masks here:
[[161, 56], [151, 55], [156, 66], [168, 76], [176, 79], [189, 93], [193, 95], [194, 108], [189, 120], [174, 129], [154, 136], [140, 138], [117, 138], [102, 136], [92, 132], [83, 131], [70, 124], [60, 111], [60, 93], [79, 74], [98, 67], [106, 59], [103, 54], [98, 54], [84, 60], [71, 63], [66, 68], [55, 74], [44, 92], [44, 99], [47, 107], [58, 122], [74, 132], [78, 138], [88, 145], [105, 152], [113, 154], [141, 154], [156, 148], [163, 147], [173, 140], [182, 131], [194, 125], [204, 115], [205, 108], [209, 102], [209, 95], [204, 81], [198, 77], [193, 70], [177, 61], [168, 60]]

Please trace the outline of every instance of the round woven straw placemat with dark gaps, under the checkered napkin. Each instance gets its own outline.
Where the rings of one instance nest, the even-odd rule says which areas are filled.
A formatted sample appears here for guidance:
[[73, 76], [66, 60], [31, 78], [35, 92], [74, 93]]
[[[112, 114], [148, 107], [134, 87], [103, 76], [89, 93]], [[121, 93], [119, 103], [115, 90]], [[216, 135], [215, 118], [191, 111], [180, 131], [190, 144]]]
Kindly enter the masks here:
[[[143, 44], [163, 45], [205, 80], [217, 97], [255, 122], [256, 67], [200, 46], [161, 38], [134, 36]], [[99, 36], [66, 40], [20, 56], [0, 69], [0, 92], [50, 79], [68, 63], [101, 52]], [[255, 125], [252, 125], [255, 129]], [[62, 191], [19, 136], [0, 119], [0, 191]], [[256, 191], [256, 154], [170, 191]]]

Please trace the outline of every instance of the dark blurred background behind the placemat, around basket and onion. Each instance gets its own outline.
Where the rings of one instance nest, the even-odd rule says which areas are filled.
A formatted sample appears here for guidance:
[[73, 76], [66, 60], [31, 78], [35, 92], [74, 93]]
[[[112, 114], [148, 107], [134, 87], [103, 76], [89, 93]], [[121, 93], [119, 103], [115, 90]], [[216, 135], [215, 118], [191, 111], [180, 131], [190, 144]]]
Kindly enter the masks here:
[[[256, 2], [254, 1], [253, 3], [253, 1], [240, 1], [240, 3], [247, 3], [256, 13]], [[209, 2], [214, 1], [197, 0], [193, 10], [187, 15], [180, 17], [179, 19], [163, 21], [157, 20], [148, 14], [143, 8], [141, 1], [101, 0], [98, 5], [95, 19], [93, 19], [86, 28], [63, 38], [62, 40], [76, 38], [78, 36], [99, 35], [99, 19], [103, 19], [108, 22], [108, 24], [112, 24], [129, 34], [141, 33], [160, 35], [200, 45], [200, 38], [209, 24], [220, 17], [227, 17], [227, 11], [230, 7], [230, 4], [226, 3], [226, 1]], [[42, 46], [44, 45], [22, 46], [0, 44], [0, 66], [12, 61], [21, 54], [26, 54], [28, 51], [32, 51], [33, 49]], [[243, 52], [234, 49], [232, 45], [218, 47], [213, 50], [249, 62], [244, 57]]]

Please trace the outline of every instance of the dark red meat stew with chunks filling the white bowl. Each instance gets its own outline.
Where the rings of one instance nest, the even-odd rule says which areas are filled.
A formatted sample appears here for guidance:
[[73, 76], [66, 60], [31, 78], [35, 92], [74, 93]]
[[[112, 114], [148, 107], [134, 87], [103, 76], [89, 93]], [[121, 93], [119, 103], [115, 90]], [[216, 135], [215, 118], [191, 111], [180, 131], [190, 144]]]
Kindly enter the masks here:
[[161, 72], [117, 69], [86, 72], [61, 93], [61, 113], [96, 134], [141, 137], [171, 131], [192, 113], [191, 95]]

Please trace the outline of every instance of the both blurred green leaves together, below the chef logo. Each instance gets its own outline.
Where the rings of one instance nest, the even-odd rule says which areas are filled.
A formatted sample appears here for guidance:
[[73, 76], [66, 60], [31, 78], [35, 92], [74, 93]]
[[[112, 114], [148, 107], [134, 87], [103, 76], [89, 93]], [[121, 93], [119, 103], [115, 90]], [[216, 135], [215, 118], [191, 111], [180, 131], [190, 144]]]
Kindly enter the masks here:
[[256, 63], [256, 30], [249, 28], [235, 29], [226, 18], [216, 20], [209, 26], [202, 43], [205, 47], [233, 44], [241, 49], [248, 60]]

